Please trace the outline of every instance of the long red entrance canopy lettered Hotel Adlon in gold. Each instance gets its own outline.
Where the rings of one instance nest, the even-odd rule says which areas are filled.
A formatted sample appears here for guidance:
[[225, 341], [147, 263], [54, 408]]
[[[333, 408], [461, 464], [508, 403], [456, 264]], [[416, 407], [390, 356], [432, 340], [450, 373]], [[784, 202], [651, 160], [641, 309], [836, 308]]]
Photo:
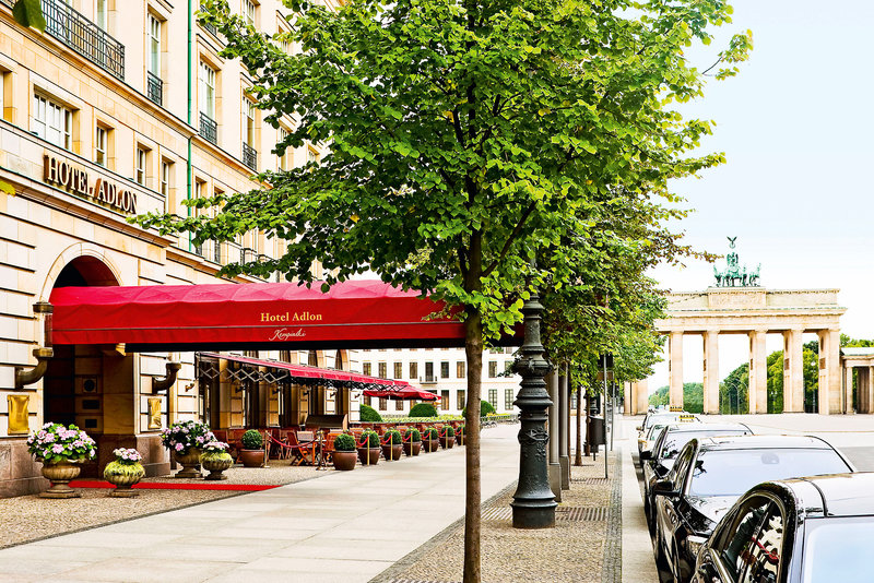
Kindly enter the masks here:
[[[229, 348], [463, 346], [441, 302], [378, 281], [324, 294], [297, 284], [60, 287], [54, 344], [120, 344], [131, 352]], [[513, 343], [517, 338], [507, 338]]]

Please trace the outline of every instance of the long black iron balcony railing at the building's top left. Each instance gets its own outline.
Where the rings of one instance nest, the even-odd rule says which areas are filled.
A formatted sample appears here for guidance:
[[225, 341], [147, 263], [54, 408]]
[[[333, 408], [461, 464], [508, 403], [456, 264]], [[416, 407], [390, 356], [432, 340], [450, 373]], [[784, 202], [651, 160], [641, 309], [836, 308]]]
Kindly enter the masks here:
[[[0, 0], [12, 8], [15, 0]], [[125, 79], [125, 45], [61, 0], [43, 0], [46, 34], [110, 75]]]

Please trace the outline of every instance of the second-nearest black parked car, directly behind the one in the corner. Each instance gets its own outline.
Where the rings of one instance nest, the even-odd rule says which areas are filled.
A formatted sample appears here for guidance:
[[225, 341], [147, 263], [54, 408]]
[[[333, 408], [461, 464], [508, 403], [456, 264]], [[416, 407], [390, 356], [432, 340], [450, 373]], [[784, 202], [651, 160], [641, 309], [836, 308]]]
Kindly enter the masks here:
[[746, 490], [767, 480], [853, 471], [835, 448], [815, 437], [693, 439], [664, 479], [652, 486], [656, 560], [674, 581], [689, 581], [698, 548]]

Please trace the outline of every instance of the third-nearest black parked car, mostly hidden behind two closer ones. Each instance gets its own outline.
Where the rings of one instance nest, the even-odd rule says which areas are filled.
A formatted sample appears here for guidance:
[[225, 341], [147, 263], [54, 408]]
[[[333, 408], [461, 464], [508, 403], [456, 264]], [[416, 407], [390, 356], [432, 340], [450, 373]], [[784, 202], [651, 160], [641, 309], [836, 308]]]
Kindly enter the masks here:
[[674, 460], [686, 443], [693, 439], [728, 436], [749, 436], [753, 430], [744, 424], [674, 424], [669, 425], [656, 444], [649, 451], [640, 452], [640, 464], [643, 466], [643, 512], [647, 516], [649, 534], [656, 533], [654, 496], [652, 486], [668, 475], [674, 466]]

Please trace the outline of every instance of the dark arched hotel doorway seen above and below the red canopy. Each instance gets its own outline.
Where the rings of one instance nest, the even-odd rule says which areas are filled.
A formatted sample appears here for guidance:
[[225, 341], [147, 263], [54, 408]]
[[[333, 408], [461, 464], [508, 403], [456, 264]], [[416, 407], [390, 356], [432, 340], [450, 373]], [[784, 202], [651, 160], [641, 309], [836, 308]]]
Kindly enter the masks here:
[[[52, 288], [102, 287], [119, 285], [111, 269], [95, 257], [82, 255], [67, 263], [55, 279]], [[108, 358], [99, 345], [58, 345], [55, 357], [49, 360], [43, 378], [43, 418], [45, 423], [75, 424], [102, 441], [108, 428], [104, 424], [107, 405], [118, 406], [119, 400], [107, 400], [107, 384], [128, 393], [132, 400], [130, 380], [133, 374], [133, 357], [116, 354]], [[114, 383], [114, 380], [120, 383]], [[120, 385], [119, 385], [120, 384]], [[119, 416], [123, 418], [123, 416]], [[133, 433], [132, 416], [130, 433]], [[90, 467], [88, 467], [90, 466]], [[96, 473], [96, 464], [83, 468], [85, 475]]]

